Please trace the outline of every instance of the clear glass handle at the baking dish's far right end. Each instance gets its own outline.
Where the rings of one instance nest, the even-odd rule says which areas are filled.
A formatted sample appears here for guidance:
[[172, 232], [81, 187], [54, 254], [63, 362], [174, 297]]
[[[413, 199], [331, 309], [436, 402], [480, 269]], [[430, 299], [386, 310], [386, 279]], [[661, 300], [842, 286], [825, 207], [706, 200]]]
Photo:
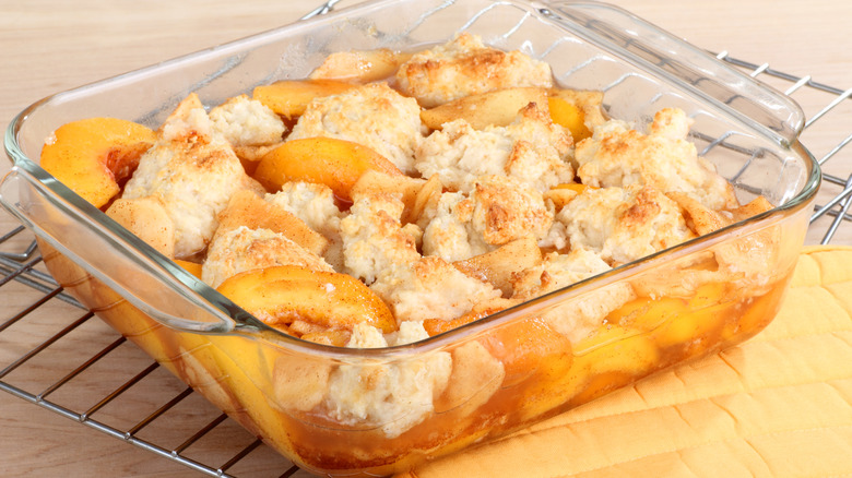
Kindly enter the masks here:
[[611, 4], [554, 1], [539, 12], [623, 60], [651, 70], [714, 104], [782, 145], [797, 142], [805, 122], [790, 97], [689, 43]]

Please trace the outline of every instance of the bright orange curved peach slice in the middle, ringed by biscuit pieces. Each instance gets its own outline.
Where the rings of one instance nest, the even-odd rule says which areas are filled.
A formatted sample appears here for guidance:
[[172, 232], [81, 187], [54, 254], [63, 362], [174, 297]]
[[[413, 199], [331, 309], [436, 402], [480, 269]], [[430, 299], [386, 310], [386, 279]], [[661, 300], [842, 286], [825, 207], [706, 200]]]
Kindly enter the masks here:
[[287, 141], [271, 151], [260, 160], [255, 178], [272, 191], [287, 181], [319, 182], [352, 201], [352, 187], [368, 170], [402, 177], [390, 160], [367, 146], [318, 136]]

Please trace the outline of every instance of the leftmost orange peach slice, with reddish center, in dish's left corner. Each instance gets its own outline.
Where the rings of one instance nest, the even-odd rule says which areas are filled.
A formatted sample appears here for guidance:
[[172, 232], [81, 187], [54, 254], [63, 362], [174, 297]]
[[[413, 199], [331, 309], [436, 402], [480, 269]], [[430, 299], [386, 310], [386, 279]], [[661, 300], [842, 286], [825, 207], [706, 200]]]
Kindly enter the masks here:
[[59, 127], [42, 148], [42, 167], [96, 207], [116, 196], [154, 131], [117, 118], [87, 118]]

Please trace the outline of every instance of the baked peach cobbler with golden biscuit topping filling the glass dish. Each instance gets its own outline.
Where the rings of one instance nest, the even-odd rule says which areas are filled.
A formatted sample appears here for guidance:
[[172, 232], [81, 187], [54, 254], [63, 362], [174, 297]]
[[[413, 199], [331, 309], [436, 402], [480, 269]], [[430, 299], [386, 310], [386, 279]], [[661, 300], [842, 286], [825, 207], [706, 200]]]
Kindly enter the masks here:
[[[382, 348], [770, 210], [739, 203], [691, 123], [662, 108], [637, 129], [608, 117], [603, 93], [461, 34], [333, 53], [309, 79], [210, 109], [190, 94], [156, 131], [71, 122], [42, 165], [265, 324]], [[783, 283], [767, 272], [778, 241], [770, 230], [690, 255], [418, 360], [271, 360], [263, 399], [309, 423], [286, 426], [281, 447], [296, 456], [346, 426], [401, 438], [321, 452], [323, 469], [472, 442], [759, 330]], [[443, 434], [417, 431], [429, 417]]]

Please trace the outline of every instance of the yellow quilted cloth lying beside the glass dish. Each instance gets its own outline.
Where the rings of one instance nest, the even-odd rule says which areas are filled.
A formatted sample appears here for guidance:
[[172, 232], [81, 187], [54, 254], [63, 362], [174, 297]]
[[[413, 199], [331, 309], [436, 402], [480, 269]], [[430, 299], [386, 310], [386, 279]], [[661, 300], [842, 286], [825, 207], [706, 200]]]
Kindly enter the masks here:
[[808, 247], [776, 320], [407, 478], [852, 476], [852, 248]]

